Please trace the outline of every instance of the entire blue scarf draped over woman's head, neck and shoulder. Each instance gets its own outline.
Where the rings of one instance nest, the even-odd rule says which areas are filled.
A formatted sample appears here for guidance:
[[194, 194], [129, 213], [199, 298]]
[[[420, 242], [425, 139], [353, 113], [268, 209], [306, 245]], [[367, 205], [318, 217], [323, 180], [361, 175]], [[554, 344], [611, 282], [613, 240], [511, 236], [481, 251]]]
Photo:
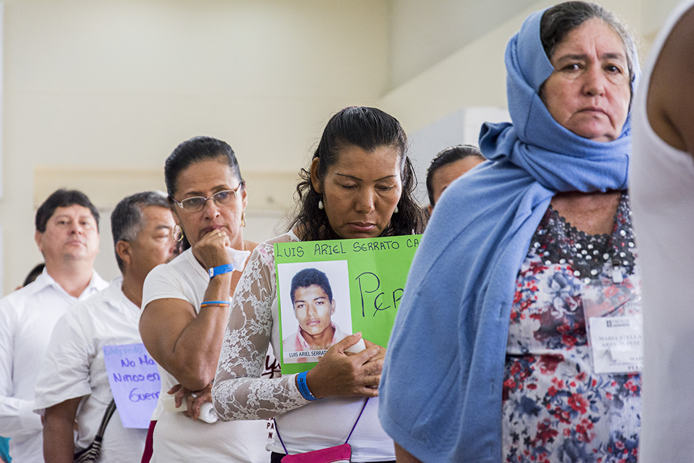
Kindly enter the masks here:
[[514, 124], [484, 124], [489, 161], [437, 202], [389, 341], [380, 420], [425, 462], [500, 461], [509, 319], [530, 239], [557, 192], [627, 187], [629, 118], [618, 139], [594, 142], [557, 124], [539, 97], [553, 71], [540, 40], [543, 12], [507, 47]]

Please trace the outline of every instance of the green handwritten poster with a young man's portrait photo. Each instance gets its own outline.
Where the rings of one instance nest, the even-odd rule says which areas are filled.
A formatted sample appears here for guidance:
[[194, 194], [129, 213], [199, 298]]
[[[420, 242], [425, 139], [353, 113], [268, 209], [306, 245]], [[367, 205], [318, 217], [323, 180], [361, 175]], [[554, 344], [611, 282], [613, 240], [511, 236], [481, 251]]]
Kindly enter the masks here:
[[275, 244], [282, 373], [311, 369], [329, 346], [354, 332], [387, 346], [420, 239]]

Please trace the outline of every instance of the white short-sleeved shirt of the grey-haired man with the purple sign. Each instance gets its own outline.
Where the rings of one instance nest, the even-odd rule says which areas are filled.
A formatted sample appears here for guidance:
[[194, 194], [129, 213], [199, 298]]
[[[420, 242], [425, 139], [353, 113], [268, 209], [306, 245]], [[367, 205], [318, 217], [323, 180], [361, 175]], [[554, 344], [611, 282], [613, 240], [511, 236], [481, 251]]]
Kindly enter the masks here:
[[[102, 292], [74, 305], [53, 329], [36, 380], [34, 411], [82, 397], [77, 410], [74, 452], [87, 448], [99, 430], [113, 395], [101, 346], [139, 344], [139, 307], [121, 291], [118, 277]], [[99, 462], [137, 463], [142, 460], [146, 429], [124, 428], [118, 410], [103, 435]]]

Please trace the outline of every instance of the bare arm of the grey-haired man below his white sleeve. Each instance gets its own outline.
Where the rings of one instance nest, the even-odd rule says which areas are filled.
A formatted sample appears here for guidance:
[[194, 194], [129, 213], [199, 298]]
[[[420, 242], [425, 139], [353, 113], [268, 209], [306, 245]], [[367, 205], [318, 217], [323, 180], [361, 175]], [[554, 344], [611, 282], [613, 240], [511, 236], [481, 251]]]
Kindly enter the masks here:
[[46, 463], [72, 463], [74, 460], [75, 416], [81, 397], [70, 398], [46, 408], [44, 414], [44, 460]]

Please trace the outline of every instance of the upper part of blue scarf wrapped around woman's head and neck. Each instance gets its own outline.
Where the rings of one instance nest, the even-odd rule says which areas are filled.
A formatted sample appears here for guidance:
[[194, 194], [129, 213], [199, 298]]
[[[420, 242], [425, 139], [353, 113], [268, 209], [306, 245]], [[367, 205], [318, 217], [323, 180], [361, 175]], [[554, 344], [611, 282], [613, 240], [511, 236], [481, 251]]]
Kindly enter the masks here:
[[540, 99], [539, 89], [554, 70], [540, 40], [543, 12], [530, 15], [506, 48], [506, 91], [513, 124], [484, 124], [480, 149], [490, 160], [507, 159], [523, 168], [553, 192], [624, 190], [631, 118], [617, 140], [594, 142], [559, 125]]

